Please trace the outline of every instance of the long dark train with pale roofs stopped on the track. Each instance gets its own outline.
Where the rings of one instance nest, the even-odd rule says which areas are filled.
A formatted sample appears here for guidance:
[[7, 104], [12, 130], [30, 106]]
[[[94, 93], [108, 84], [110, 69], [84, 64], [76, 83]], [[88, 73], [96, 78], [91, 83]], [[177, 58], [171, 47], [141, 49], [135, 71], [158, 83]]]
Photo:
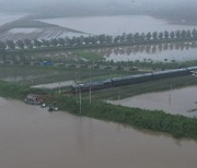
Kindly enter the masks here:
[[128, 75], [124, 77], [114, 77], [114, 79], [108, 79], [104, 81], [73, 84], [71, 85], [71, 93], [79, 93], [79, 92], [84, 93], [84, 92], [89, 92], [90, 89], [99, 91], [99, 89], [105, 89], [109, 87], [118, 87], [118, 86], [124, 86], [124, 85], [143, 83], [143, 82], [148, 82], [152, 80], [161, 80], [165, 77], [173, 77], [173, 76], [179, 76], [179, 75], [189, 75], [194, 71], [197, 71], [197, 67], [158, 71], [158, 72], [152, 72], [152, 73]]

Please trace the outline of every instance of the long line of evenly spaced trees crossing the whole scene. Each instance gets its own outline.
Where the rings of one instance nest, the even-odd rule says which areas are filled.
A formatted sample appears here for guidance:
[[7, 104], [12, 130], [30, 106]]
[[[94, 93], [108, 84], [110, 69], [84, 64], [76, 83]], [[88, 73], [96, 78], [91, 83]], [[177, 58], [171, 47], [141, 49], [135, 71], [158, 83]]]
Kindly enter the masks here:
[[66, 37], [66, 38], [54, 38], [47, 39], [25, 39], [25, 40], [7, 40], [0, 41], [0, 50], [15, 50], [15, 49], [33, 49], [33, 48], [51, 48], [51, 47], [82, 47], [82, 46], [107, 46], [118, 44], [140, 44], [140, 43], [152, 43], [152, 41], [169, 41], [169, 40], [182, 40], [182, 39], [195, 39], [197, 38], [197, 31], [175, 31], [175, 32], [153, 32], [153, 33], [136, 33], [126, 34], [118, 36], [109, 35], [97, 35], [97, 36], [80, 36], [80, 37]]

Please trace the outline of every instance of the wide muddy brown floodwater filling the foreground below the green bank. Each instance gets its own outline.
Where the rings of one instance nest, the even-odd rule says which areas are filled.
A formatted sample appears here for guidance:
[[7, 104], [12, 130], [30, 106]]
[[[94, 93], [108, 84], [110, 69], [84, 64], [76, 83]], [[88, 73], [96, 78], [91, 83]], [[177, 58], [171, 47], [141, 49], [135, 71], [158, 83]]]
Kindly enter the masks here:
[[197, 142], [0, 98], [2, 168], [196, 168]]

